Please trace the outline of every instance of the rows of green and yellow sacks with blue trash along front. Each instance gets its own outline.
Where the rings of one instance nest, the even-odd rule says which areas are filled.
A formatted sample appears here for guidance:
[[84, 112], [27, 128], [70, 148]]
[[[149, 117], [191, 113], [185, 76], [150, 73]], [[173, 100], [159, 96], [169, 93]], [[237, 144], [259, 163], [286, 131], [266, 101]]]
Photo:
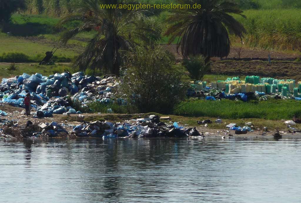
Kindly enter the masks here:
[[247, 101], [248, 97], [267, 100], [268, 97], [292, 98], [301, 100], [301, 82], [295, 80], [278, 80], [274, 78], [260, 78], [247, 76], [245, 80], [239, 77], [218, 80], [207, 85], [207, 82], [191, 82], [188, 96], [204, 97], [206, 100], [235, 99]]

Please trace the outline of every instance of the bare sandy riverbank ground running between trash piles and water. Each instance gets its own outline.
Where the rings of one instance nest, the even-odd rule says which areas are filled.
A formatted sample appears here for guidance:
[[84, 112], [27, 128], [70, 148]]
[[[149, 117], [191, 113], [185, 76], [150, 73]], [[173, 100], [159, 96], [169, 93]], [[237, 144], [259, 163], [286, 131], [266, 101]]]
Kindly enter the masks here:
[[[1, 106], [1, 109], [8, 113], [7, 116], [2, 117], [6, 118], [7, 120], [16, 120], [18, 127], [25, 126], [28, 121], [31, 121], [34, 124], [40, 124], [40, 123], [51, 123], [51, 122], [57, 122], [58, 124], [61, 124], [64, 126], [64, 128], [71, 132], [72, 129], [81, 124], [82, 122], [76, 121], [76, 114], [64, 116], [64, 115], [53, 115], [53, 118], [33, 118], [32, 116], [25, 116], [21, 115], [20, 112], [23, 111], [22, 108], [17, 108], [13, 106], [9, 106], [7, 104], [4, 104], [4, 106]], [[197, 118], [197, 117], [182, 117], [182, 116], [174, 116], [174, 115], [160, 115], [156, 113], [148, 113], [148, 114], [82, 114], [85, 116], [84, 122], [93, 122], [93, 121], [109, 121], [109, 122], [125, 122], [129, 121], [131, 119], [138, 119], [138, 118], [146, 118], [149, 115], [159, 115], [162, 117], [169, 117], [168, 120], [161, 119], [162, 122], [171, 125], [173, 122], [177, 122], [180, 126], [183, 126], [185, 128], [191, 128], [196, 127], [196, 129], [199, 131], [199, 133], [205, 138], [217, 138], [217, 139], [232, 139], [232, 138], [273, 138], [273, 134], [275, 133], [275, 129], [278, 129], [281, 131], [281, 134], [284, 136], [300, 136], [300, 134], [293, 134], [290, 133], [287, 128], [273, 128], [273, 127], [281, 127], [277, 126], [279, 123], [283, 123], [283, 121], [266, 121], [270, 122], [271, 125], [268, 126], [268, 132], [263, 132], [262, 128], [256, 128], [258, 127], [259, 121], [254, 121], [253, 119], [244, 119], [241, 120], [241, 123], [244, 123], [246, 121], [253, 121], [252, 123], [254, 125], [254, 132], [248, 132], [244, 135], [235, 135], [235, 131], [229, 130], [225, 127], [226, 124], [229, 123], [237, 123], [238, 120], [223, 120], [222, 124], [216, 124], [213, 122], [213, 124], [209, 124], [208, 127], [205, 127], [205, 125], [198, 125], [197, 121], [198, 119], [205, 119], [205, 118]], [[225, 123], [224, 123], [225, 122]], [[237, 123], [240, 124], [240, 123]], [[276, 124], [276, 125], [275, 125]], [[76, 136], [69, 134], [68, 136], [57, 136], [56, 138], [76, 138]], [[188, 137], [191, 139], [203, 139], [202, 136], [200, 137]], [[14, 139], [14, 138], [13, 138]]]

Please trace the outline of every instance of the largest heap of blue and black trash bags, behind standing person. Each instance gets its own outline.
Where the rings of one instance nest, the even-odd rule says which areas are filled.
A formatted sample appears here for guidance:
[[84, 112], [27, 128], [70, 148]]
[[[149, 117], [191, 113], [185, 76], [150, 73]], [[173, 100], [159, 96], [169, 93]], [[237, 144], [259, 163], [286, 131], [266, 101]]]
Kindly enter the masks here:
[[[104, 104], [113, 103], [114, 94], [119, 86], [116, 77], [105, 78], [84, 75], [82, 72], [70, 74], [69, 72], [56, 73], [50, 76], [35, 75], [3, 78], [0, 84], [0, 103], [23, 107], [24, 98], [30, 93], [31, 106], [42, 117], [51, 117], [52, 114], [77, 113], [67, 102], [67, 96], [79, 100], [83, 106], [90, 101], [100, 101]], [[126, 104], [118, 99], [120, 105]]]

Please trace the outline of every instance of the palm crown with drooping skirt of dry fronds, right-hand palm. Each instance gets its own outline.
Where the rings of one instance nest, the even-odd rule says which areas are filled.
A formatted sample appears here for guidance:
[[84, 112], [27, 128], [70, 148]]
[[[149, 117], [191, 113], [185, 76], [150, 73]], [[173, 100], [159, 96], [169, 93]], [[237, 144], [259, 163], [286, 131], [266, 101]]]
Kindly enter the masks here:
[[[229, 33], [242, 40], [244, 26], [230, 14], [242, 14], [238, 4], [231, 0], [179, 0], [179, 4], [190, 4], [190, 9], [173, 10], [168, 21], [172, 25], [165, 36], [171, 36], [169, 44], [177, 37], [177, 50], [181, 46], [184, 58], [202, 54], [208, 63], [211, 57], [226, 57], [230, 52]], [[200, 4], [200, 9], [193, 8]], [[244, 16], [245, 17], [245, 16]]]

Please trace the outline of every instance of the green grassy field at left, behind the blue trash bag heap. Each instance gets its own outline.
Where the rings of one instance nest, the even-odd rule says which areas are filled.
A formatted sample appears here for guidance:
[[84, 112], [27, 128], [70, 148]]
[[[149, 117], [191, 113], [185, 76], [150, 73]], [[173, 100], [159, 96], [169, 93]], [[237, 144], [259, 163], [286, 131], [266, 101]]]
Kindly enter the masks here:
[[[64, 46], [60, 40], [60, 31], [56, 25], [59, 18], [45, 15], [28, 15], [24, 19], [14, 14], [11, 23], [0, 33], [0, 62], [39, 62], [46, 51], [59, 47], [54, 55], [57, 62], [70, 62], [87, 45], [87, 40], [95, 32], [78, 34]], [[64, 28], [76, 25], [71, 22]]]

